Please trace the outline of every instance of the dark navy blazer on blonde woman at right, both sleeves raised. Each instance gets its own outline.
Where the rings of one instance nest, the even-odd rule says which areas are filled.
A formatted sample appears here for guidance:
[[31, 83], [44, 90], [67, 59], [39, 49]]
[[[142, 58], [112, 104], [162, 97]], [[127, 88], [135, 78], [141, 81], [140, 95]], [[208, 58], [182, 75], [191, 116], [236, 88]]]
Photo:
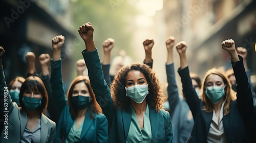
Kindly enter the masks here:
[[[223, 116], [223, 126], [228, 142], [252, 142], [252, 128], [255, 125], [255, 108], [253, 107], [250, 84], [243, 66], [243, 59], [232, 62], [234, 76], [237, 80], [237, 100], [230, 106], [230, 112]], [[213, 113], [202, 110], [203, 103], [198, 98], [189, 76], [188, 67], [178, 70], [183, 84], [188, 106], [192, 111], [195, 125], [187, 142], [206, 142]]]

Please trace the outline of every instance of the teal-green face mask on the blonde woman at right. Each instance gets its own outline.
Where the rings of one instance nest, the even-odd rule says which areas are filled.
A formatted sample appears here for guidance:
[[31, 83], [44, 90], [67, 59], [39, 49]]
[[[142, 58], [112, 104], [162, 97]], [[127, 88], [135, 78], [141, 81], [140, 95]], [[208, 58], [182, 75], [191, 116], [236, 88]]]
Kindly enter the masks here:
[[219, 87], [219, 86], [208, 87], [206, 88], [205, 94], [212, 103], [217, 104], [221, 101], [221, 99], [225, 94], [225, 91], [224, 91], [225, 87], [226, 85], [224, 87]]

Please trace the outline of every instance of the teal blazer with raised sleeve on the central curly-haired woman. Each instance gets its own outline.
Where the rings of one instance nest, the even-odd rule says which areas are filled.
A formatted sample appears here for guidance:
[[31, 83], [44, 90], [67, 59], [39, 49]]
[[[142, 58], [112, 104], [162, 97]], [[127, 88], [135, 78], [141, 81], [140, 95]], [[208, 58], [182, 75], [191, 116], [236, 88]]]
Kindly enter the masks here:
[[[129, 107], [125, 111], [115, 109], [108, 84], [104, 81], [103, 72], [97, 49], [92, 52], [82, 51], [86, 61], [91, 86], [96, 95], [96, 100], [111, 126], [108, 142], [125, 142], [132, 119]], [[152, 131], [152, 142], [172, 142], [173, 131], [170, 115], [165, 110], [158, 113], [149, 108]]]

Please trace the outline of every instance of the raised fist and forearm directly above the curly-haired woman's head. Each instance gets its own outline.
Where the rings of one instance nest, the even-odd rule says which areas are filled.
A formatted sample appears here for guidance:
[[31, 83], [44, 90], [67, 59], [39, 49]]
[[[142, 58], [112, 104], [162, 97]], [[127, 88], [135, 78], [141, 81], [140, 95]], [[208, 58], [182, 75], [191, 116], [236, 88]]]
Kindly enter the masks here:
[[153, 59], [152, 59], [152, 48], [155, 44], [153, 39], [146, 39], [143, 41], [143, 46], [145, 50], [145, 59], [144, 64], [149, 65], [151, 68], [153, 66]]

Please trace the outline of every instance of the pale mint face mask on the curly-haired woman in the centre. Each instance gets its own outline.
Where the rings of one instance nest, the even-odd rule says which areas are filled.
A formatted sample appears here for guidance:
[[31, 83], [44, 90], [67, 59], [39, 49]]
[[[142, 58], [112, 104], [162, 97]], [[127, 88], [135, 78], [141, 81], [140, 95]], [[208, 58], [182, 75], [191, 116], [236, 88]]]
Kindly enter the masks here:
[[129, 97], [134, 102], [141, 104], [148, 94], [147, 85], [134, 85], [125, 87], [126, 97]]

